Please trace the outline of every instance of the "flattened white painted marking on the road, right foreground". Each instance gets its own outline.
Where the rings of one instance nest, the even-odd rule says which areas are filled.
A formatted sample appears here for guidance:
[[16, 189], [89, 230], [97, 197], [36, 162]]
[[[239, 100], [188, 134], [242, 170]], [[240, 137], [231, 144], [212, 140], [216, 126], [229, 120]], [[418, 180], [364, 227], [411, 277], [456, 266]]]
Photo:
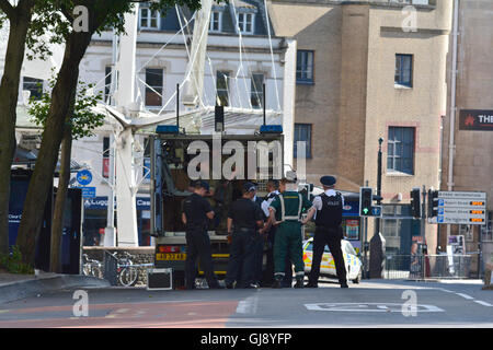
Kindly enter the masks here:
[[[310, 311], [330, 311], [330, 312], [356, 312], [356, 313], [402, 313], [402, 305], [399, 303], [317, 303], [305, 304]], [[440, 313], [444, 310], [435, 305], [415, 305], [417, 313]]]

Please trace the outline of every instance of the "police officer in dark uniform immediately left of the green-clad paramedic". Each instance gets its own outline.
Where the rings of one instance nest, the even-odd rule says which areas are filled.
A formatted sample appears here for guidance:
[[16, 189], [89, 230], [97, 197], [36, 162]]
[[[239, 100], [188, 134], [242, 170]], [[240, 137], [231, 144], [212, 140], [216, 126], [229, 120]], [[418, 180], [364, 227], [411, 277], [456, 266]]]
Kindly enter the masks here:
[[264, 225], [262, 209], [253, 201], [255, 185], [245, 183], [243, 196], [237, 199], [228, 213], [228, 234], [232, 235], [226, 287], [259, 288], [254, 280], [257, 230]]

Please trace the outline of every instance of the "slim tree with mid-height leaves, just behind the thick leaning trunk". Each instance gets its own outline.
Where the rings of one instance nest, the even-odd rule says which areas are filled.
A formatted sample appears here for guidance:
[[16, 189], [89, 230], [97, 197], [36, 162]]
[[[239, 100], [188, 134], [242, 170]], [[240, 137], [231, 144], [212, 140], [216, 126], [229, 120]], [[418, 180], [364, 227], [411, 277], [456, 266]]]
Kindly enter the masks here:
[[[55, 80], [49, 82], [53, 89]], [[103, 101], [102, 93], [93, 95], [90, 92], [94, 85], [79, 82], [77, 92], [72, 95], [70, 109], [67, 114], [64, 126], [64, 136], [60, 148], [60, 172], [58, 177], [58, 189], [55, 199], [53, 222], [51, 222], [51, 240], [50, 240], [50, 271], [61, 272], [60, 266], [60, 244], [64, 231], [64, 213], [65, 202], [67, 199], [67, 190], [70, 182], [70, 159], [72, 140], [88, 137], [92, 135], [92, 130], [103, 125], [104, 115], [92, 112], [99, 102]], [[34, 122], [44, 126], [49, 113], [51, 96], [44, 93], [41, 101], [31, 101], [30, 115], [33, 116]]]

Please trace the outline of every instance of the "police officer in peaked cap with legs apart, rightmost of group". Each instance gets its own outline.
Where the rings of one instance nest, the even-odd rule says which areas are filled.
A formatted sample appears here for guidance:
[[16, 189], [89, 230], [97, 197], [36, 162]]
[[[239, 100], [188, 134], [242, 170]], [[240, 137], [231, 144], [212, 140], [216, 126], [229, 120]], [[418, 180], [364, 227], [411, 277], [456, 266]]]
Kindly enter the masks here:
[[[313, 237], [313, 261], [308, 277], [309, 282], [306, 287], [318, 287], [320, 262], [325, 245], [328, 245], [335, 262], [335, 270], [341, 288], [347, 288], [346, 267], [341, 249], [341, 240], [343, 240], [341, 223], [344, 197], [339, 191], [334, 190], [334, 185], [336, 183], [335, 177], [322, 176], [320, 183], [323, 186], [324, 192], [317, 196], [313, 200], [313, 207], [317, 209], [317, 229]], [[309, 213], [307, 221], [310, 220], [311, 217], [312, 213]]]

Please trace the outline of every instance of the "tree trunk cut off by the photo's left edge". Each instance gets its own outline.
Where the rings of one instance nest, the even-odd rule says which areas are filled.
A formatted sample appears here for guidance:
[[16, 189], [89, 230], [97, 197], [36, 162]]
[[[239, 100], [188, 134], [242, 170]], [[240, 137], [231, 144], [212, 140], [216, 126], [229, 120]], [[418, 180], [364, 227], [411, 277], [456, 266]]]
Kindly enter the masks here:
[[31, 8], [25, 8], [25, 3], [24, 1], [24, 8], [19, 4], [14, 18], [9, 18], [9, 42], [0, 84], [0, 254], [8, 254], [9, 250], [10, 168], [16, 147], [15, 109], [25, 40], [31, 24]]

